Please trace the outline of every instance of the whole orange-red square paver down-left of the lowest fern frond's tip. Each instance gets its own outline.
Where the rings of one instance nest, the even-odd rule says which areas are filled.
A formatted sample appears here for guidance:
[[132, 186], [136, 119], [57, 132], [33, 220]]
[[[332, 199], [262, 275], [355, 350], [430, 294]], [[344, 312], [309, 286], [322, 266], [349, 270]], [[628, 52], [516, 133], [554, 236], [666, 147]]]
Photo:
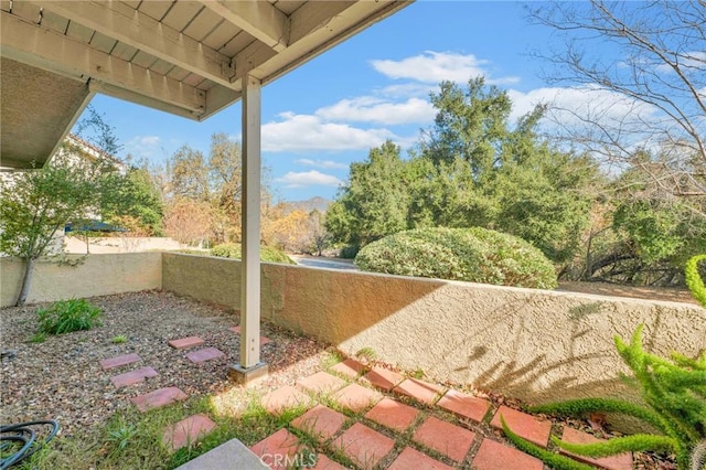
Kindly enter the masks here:
[[431, 416], [419, 426], [413, 439], [460, 462], [471, 449], [475, 432]]

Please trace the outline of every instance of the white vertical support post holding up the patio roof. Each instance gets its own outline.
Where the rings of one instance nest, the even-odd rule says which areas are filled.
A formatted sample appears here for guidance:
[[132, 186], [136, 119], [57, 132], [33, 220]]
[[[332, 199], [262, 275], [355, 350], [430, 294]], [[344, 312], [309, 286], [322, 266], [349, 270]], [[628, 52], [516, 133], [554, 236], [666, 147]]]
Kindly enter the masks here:
[[238, 382], [267, 373], [260, 363], [260, 81], [243, 81], [240, 363]]

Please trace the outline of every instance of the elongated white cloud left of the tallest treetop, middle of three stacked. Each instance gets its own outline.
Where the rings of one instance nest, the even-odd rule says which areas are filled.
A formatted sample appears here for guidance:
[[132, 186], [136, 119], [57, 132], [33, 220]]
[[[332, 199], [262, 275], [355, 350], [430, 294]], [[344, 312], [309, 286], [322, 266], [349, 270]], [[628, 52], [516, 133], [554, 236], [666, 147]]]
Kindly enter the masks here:
[[436, 111], [431, 103], [409, 98], [404, 103], [389, 103], [372, 96], [342, 99], [333, 106], [317, 110], [317, 116], [327, 120], [364, 121], [388, 126], [400, 124], [428, 124]]

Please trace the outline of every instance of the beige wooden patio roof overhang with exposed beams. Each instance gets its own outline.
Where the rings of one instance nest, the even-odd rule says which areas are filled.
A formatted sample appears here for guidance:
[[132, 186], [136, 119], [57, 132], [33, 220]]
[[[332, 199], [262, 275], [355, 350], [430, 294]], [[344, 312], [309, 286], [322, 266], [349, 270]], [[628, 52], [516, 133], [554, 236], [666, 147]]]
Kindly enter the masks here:
[[0, 0], [0, 163], [43, 165], [95, 93], [206, 119], [408, 3]]

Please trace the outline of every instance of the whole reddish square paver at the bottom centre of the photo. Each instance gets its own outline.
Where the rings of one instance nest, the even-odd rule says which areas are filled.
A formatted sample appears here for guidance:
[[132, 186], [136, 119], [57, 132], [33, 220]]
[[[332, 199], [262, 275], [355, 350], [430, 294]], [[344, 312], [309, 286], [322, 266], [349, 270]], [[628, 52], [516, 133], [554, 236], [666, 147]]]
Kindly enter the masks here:
[[339, 436], [331, 447], [340, 449], [364, 469], [372, 469], [395, 447], [395, 441], [360, 423]]

